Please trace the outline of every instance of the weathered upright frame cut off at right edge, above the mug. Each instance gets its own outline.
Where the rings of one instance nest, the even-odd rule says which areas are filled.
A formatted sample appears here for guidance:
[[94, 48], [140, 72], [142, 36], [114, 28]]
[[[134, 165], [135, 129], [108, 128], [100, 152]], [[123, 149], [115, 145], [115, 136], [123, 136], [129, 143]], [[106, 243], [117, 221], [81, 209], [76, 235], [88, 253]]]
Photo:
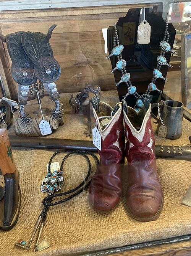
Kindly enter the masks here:
[[182, 102], [191, 109], [191, 33], [181, 35]]

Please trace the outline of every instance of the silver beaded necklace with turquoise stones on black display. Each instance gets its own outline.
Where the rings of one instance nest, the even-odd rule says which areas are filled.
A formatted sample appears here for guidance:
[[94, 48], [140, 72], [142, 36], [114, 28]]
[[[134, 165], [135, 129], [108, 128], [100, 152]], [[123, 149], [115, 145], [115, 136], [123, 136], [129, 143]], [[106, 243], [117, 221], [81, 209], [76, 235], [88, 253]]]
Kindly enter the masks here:
[[[170, 49], [170, 45], [168, 44], [170, 34], [169, 34], [169, 32], [168, 32], [168, 22], [165, 21], [165, 23], [166, 23], [166, 24], [165, 24], [165, 33], [164, 33], [164, 37], [163, 37], [163, 40], [160, 42], [160, 46], [161, 46], [160, 56], [157, 57], [157, 62], [158, 62], [158, 63], [157, 63], [156, 68], [154, 69], [153, 78], [152, 78], [151, 83], [149, 84], [149, 86], [148, 86], [148, 88], [147, 88], [145, 94], [150, 94], [151, 91], [158, 91], [158, 92], [162, 93], [162, 91], [160, 91], [159, 89], [157, 89], [157, 87], [156, 87], [156, 85], [155, 85], [155, 82], [156, 82], [156, 79], [157, 79], [157, 78], [162, 78], [162, 79], [165, 80], [165, 81], [167, 80], [166, 78], [163, 78], [162, 73], [160, 72], [161, 65], [167, 65], [167, 66], [169, 66], [169, 67], [172, 68], [172, 66], [167, 63], [167, 60], [166, 60], [165, 57], [164, 57], [164, 56], [165, 56], [165, 52], [171, 51], [172, 53], [176, 54], [174, 51], [172, 51], [172, 50]], [[115, 32], [115, 36], [113, 37], [113, 47], [114, 47], [114, 49], [112, 50], [113, 53], [112, 53], [111, 55], [109, 55], [109, 56], [107, 57], [107, 59], [108, 59], [110, 56], [115, 55], [115, 56], [117, 56], [118, 62], [119, 62], [119, 61], [123, 61], [123, 63], [121, 62], [121, 63], [122, 63], [122, 65], [121, 65], [121, 66], [122, 66], [122, 69], [118, 68], [117, 65], [116, 65], [116, 68], [115, 68], [115, 69], [120, 69], [121, 74], [122, 74], [121, 80], [120, 80], [120, 82], [118, 82], [118, 83], [116, 84], [116, 86], [118, 86], [121, 82], [124, 82], [123, 80], [125, 80], [125, 83], [126, 83], [126, 85], [128, 86], [128, 93], [127, 93], [125, 96], [123, 96], [123, 98], [126, 99], [126, 97], [127, 97], [129, 94], [131, 94], [131, 95], [133, 95], [136, 99], [138, 99], [137, 102], [136, 102], [136, 105], [137, 105], [138, 107], [141, 107], [141, 106], [143, 105], [143, 103], [142, 103], [141, 99], [139, 99], [140, 95], [139, 95], [138, 92], [136, 92], [136, 87], [131, 84], [131, 81], [130, 81], [130, 74], [126, 72], [126, 68], [124, 67], [124, 66], [126, 66], [126, 61], [122, 59], [122, 54], [121, 54], [121, 52], [123, 51], [123, 45], [120, 45], [120, 44], [119, 44], [119, 37], [118, 37], [118, 33], [117, 33], [117, 23], [114, 24], [114, 32]], [[117, 49], [117, 51], [120, 52], [119, 54], [116, 53], [117, 51], [114, 51], [115, 48], [117, 48], [117, 47], [121, 48], [121, 50], [118, 50], [119, 48]], [[125, 63], [125, 64], [124, 64], [124, 63]], [[123, 67], [124, 67], [124, 68], [123, 68]], [[115, 69], [113, 69], [111, 72], [113, 72]], [[123, 78], [123, 77], [125, 77], [125, 78]], [[123, 78], [123, 79], [122, 79], [122, 78]], [[126, 80], [128, 80], [128, 81], [126, 81]]]

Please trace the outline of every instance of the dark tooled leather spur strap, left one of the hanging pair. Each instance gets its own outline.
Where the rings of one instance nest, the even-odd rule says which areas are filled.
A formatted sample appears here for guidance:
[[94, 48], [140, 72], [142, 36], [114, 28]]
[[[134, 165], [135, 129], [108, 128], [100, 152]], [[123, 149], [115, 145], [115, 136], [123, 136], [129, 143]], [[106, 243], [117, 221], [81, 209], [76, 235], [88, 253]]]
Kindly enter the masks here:
[[11, 74], [16, 83], [21, 85], [33, 84], [37, 78], [34, 74], [34, 64], [25, 53], [21, 36], [23, 31], [18, 31], [6, 36], [6, 45], [12, 61]]

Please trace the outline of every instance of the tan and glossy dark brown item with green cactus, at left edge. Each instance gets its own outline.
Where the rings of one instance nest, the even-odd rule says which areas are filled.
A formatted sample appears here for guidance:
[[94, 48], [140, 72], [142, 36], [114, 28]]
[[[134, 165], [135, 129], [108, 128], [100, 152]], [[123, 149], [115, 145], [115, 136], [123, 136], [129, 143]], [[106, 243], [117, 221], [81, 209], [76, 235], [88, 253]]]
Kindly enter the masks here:
[[0, 169], [5, 180], [5, 195], [0, 200], [0, 229], [10, 230], [18, 220], [21, 192], [19, 173], [13, 159], [6, 129], [0, 129], [0, 150]]

